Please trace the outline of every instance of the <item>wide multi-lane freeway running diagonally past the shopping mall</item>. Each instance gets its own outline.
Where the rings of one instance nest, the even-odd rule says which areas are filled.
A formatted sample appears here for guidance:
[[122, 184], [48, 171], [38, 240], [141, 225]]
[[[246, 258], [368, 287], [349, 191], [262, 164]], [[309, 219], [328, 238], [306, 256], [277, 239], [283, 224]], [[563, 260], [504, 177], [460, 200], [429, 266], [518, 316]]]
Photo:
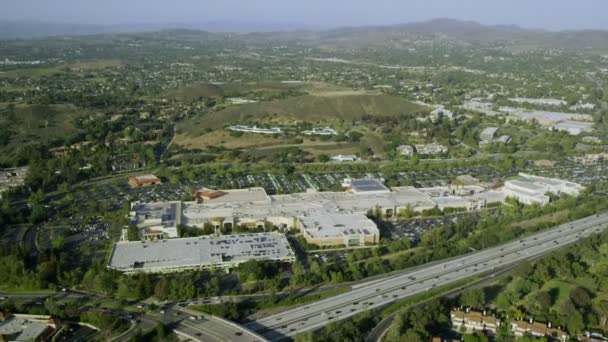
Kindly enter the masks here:
[[504, 245], [363, 283], [349, 292], [250, 322], [246, 327], [271, 341], [292, 338], [435, 287], [498, 272], [599, 233], [607, 226], [608, 214], [589, 216]]

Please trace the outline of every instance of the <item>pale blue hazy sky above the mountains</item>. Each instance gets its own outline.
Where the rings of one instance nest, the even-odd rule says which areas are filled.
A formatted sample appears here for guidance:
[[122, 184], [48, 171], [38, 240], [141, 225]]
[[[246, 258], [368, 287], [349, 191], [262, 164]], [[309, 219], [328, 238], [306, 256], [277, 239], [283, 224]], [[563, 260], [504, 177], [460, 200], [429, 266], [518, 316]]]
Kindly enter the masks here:
[[1, 19], [130, 24], [280, 22], [311, 27], [450, 17], [547, 29], [608, 29], [608, 0], [0, 0]]

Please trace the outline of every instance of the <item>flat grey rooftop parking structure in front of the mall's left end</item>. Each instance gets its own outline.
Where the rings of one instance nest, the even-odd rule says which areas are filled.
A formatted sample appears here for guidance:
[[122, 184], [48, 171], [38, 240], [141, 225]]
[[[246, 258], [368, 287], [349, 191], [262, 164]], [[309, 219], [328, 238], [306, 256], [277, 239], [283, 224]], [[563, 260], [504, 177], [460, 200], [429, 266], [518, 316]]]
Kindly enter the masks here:
[[293, 262], [295, 254], [279, 233], [202, 236], [152, 242], [117, 242], [108, 268], [128, 274], [232, 268], [249, 261]]

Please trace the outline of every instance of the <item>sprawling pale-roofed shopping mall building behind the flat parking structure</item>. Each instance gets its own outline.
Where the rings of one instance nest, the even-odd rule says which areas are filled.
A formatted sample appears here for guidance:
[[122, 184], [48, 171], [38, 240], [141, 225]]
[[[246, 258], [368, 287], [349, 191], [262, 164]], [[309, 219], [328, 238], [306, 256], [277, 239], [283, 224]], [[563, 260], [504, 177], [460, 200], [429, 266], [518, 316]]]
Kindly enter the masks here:
[[[485, 205], [473, 198], [478, 186], [454, 189], [387, 188], [375, 179], [345, 180], [344, 192], [312, 192], [269, 196], [263, 188], [196, 192], [192, 202], [133, 203], [131, 224], [146, 239], [177, 236], [177, 225], [211, 226], [216, 231], [243, 229], [299, 229], [308, 243], [360, 245], [378, 242], [378, 229], [367, 218], [395, 216], [402, 211], [420, 212], [438, 207], [477, 209]], [[502, 197], [504, 199], [504, 196]]]

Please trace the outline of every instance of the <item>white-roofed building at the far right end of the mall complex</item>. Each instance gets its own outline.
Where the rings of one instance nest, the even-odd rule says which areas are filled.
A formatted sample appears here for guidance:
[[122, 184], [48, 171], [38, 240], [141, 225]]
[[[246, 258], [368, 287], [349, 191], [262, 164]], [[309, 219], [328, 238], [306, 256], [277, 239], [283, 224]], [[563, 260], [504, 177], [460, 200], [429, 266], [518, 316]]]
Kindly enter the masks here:
[[516, 179], [508, 180], [502, 192], [514, 197], [524, 204], [547, 204], [550, 201], [547, 193], [560, 195], [562, 193], [577, 196], [583, 187], [577, 183], [556, 178], [545, 178], [520, 173]]

